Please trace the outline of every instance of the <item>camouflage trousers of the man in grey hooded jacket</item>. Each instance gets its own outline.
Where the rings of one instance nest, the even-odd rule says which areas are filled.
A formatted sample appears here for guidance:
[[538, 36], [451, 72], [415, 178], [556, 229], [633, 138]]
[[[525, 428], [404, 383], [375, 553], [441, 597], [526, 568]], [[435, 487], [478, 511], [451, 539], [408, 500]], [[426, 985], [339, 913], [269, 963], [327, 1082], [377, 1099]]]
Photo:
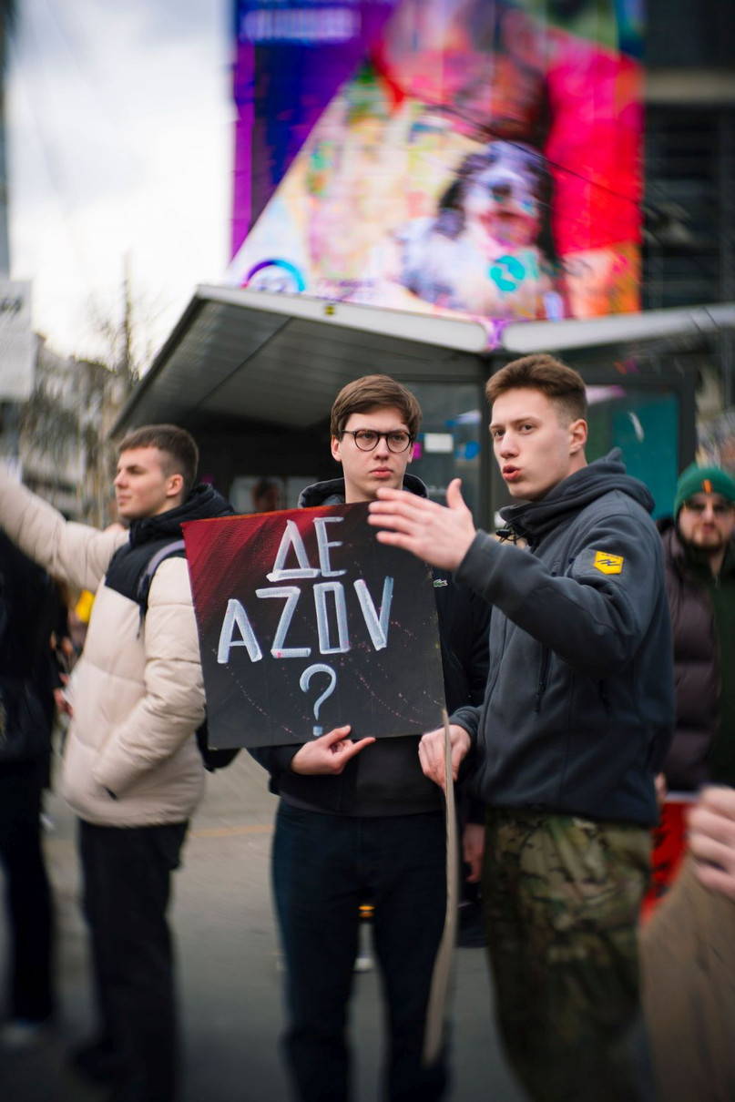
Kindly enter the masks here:
[[649, 854], [639, 827], [488, 811], [483, 899], [496, 1013], [534, 1100], [641, 1098], [629, 1034]]

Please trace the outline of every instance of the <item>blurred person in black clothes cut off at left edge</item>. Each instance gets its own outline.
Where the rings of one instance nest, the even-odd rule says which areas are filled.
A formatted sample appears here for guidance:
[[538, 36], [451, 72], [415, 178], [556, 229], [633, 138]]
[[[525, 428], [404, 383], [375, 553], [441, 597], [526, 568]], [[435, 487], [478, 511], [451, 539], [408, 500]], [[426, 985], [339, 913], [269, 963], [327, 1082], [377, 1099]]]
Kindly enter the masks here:
[[47, 574], [0, 531], [0, 863], [6, 877], [9, 1018], [0, 1045], [44, 1036], [56, 1005], [53, 903], [42, 846], [53, 694], [50, 636], [56, 596]]

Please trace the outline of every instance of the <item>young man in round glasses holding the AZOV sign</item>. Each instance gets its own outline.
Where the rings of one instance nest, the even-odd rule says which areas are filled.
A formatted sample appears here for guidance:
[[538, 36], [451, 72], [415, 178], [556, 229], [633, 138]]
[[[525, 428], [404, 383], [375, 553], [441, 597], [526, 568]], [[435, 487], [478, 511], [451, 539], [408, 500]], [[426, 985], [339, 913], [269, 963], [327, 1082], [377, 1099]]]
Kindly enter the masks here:
[[[307, 487], [300, 505], [371, 501], [383, 486], [425, 497], [407, 473], [420, 421], [413, 395], [388, 376], [348, 383], [331, 423], [343, 477]], [[489, 611], [442, 572], [434, 585], [447, 706], [478, 703]], [[432, 1102], [446, 1089], [445, 1054], [422, 1062], [446, 911], [446, 840], [441, 791], [418, 752], [418, 736], [353, 742], [348, 725], [301, 747], [253, 752], [281, 797], [272, 873], [287, 965], [285, 1050], [302, 1102], [352, 1096], [345, 1030], [365, 903], [374, 905], [388, 1003], [385, 1096]]]

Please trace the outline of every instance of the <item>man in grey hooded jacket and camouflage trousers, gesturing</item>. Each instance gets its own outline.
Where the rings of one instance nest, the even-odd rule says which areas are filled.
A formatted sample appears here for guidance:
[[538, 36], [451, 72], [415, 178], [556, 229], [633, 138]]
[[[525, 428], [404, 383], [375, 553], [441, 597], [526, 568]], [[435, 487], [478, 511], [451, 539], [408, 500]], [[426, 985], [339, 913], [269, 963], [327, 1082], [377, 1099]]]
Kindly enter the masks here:
[[[495, 612], [482, 707], [452, 716], [488, 806], [483, 897], [508, 1058], [544, 1102], [641, 1096], [629, 1034], [637, 923], [673, 725], [671, 629], [652, 499], [617, 453], [587, 465], [581, 376], [551, 356], [488, 382], [490, 435], [522, 504], [506, 536], [475, 531], [458, 482], [447, 507], [378, 491], [378, 539], [456, 572]], [[444, 780], [444, 735], [424, 735]], [[465, 854], [479, 864], [482, 828]]]

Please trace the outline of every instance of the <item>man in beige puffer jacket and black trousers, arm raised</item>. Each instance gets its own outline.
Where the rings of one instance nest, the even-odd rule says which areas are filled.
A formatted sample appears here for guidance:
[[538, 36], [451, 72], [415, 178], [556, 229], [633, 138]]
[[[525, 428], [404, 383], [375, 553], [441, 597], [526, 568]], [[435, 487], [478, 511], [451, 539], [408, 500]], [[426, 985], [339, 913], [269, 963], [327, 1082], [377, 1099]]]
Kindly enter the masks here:
[[91, 936], [99, 1035], [78, 1070], [114, 1084], [110, 1102], [174, 1102], [176, 1024], [170, 875], [204, 787], [194, 737], [204, 688], [188, 570], [167, 558], [141, 615], [138, 581], [182, 521], [224, 516], [194, 486], [198, 453], [182, 429], [134, 430], [115, 493], [128, 531], [67, 522], [0, 472], [0, 523], [55, 577], [96, 593], [73, 678], [62, 786], [79, 817], [84, 909]]

